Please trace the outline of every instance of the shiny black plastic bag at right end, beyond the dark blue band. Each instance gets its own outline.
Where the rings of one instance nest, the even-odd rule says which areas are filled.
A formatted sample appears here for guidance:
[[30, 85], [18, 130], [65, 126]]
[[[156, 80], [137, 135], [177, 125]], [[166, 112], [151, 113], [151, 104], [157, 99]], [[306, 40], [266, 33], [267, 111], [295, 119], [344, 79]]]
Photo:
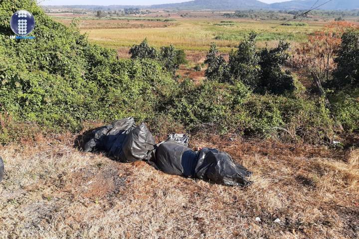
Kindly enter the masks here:
[[198, 153], [195, 177], [228, 186], [247, 186], [251, 182], [245, 177], [251, 175], [243, 166], [236, 164], [232, 157], [212, 148], [202, 148]]

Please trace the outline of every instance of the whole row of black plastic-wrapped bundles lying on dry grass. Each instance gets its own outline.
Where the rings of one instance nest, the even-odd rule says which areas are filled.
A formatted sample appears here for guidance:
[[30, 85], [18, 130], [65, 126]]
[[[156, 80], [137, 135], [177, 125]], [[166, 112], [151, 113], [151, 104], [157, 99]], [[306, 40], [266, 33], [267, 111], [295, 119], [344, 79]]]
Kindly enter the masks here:
[[188, 148], [188, 140], [185, 134], [171, 134], [166, 141], [155, 145], [155, 138], [145, 123], [136, 126], [133, 118], [126, 118], [94, 130], [85, 152], [105, 150], [121, 162], [146, 160], [168, 174], [223, 185], [251, 183], [246, 179], [251, 172], [235, 163], [228, 153], [212, 148], [193, 151]]

